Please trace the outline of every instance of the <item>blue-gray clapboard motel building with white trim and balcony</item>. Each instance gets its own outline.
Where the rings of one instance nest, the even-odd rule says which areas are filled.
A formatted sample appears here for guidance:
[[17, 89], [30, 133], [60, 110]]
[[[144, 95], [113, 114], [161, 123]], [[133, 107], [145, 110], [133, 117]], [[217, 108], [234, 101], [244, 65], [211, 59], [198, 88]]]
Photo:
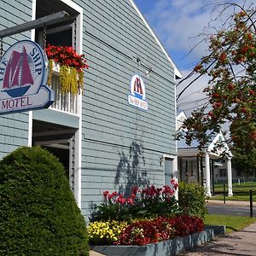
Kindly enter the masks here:
[[[43, 44], [45, 36], [47, 43], [72, 45], [90, 66], [84, 92], [62, 95], [55, 70], [50, 108], [0, 117], [0, 158], [20, 146], [49, 149], [66, 166], [88, 215], [105, 190], [162, 186], [176, 177], [181, 75], [132, 0], [1, 0], [0, 31], [62, 10], [67, 20], [47, 24], [46, 33], [38, 27], [3, 38], [3, 50], [23, 39]], [[132, 96], [132, 78], [143, 81], [141, 99]]]

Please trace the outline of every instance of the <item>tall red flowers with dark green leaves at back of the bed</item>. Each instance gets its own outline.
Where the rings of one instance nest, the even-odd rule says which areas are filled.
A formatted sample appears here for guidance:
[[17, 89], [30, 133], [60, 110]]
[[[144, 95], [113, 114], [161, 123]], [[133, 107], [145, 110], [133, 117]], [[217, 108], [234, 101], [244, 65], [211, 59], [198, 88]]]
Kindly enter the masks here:
[[90, 220], [127, 220], [134, 218], [168, 217], [177, 213], [175, 191], [177, 183], [172, 180], [171, 186], [156, 188], [154, 185], [146, 189], [133, 187], [131, 195], [118, 194], [116, 191], [103, 192], [104, 201], [96, 207]]

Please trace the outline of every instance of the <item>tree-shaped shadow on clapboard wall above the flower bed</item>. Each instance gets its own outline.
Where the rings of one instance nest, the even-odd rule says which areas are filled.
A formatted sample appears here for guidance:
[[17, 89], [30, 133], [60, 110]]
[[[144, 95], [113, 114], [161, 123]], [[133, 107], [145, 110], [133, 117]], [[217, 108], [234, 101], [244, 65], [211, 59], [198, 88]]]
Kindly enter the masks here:
[[119, 164], [114, 179], [114, 184], [119, 189], [119, 193], [130, 194], [131, 188], [146, 187], [149, 184], [148, 172], [143, 168], [145, 158], [143, 155], [143, 144], [132, 141], [129, 155], [122, 151], [119, 153]]

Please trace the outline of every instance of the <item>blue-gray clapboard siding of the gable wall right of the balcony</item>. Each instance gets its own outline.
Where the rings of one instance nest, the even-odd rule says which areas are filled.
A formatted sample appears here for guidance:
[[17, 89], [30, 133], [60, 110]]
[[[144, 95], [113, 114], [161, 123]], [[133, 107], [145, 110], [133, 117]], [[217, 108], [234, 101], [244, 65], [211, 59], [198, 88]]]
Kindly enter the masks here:
[[[163, 185], [163, 154], [176, 154], [174, 70], [130, 1], [77, 1], [84, 8], [82, 212], [104, 190]], [[137, 58], [141, 62], [137, 62]], [[142, 65], [143, 64], [143, 65]], [[153, 72], [147, 77], [145, 72]], [[128, 104], [133, 74], [143, 77], [148, 111]]]

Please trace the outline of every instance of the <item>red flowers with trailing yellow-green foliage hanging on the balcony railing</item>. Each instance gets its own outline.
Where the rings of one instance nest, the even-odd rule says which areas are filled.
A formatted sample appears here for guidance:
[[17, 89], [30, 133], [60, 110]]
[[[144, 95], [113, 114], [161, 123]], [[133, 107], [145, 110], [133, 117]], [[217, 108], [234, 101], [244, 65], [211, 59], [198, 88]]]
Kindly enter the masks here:
[[78, 55], [70, 46], [48, 44], [44, 49], [49, 59], [48, 84], [51, 84], [54, 64], [60, 65], [61, 93], [78, 94], [83, 90], [84, 68], [89, 68], [84, 55]]

